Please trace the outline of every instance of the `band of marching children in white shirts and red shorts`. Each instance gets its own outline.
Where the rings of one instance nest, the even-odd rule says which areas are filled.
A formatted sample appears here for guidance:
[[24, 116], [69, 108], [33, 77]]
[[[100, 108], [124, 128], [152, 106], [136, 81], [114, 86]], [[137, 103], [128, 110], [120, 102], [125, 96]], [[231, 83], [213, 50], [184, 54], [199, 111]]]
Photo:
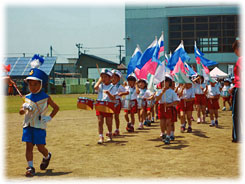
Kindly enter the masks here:
[[[154, 116], [160, 120], [161, 138], [165, 144], [174, 140], [174, 122], [180, 119], [180, 131], [192, 132], [192, 112], [197, 110], [197, 123], [205, 123], [206, 111], [210, 113], [210, 127], [218, 126], [218, 109], [220, 95], [224, 105], [230, 105], [230, 83], [225, 79], [224, 87], [220, 87], [216, 80], [211, 79], [209, 84], [204, 83], [203, 76], [196, 76], [190, 83], [175, 84], [173, 77], [166, 74], [165, 80], [154, 86], [154, 92], [147, 89], [148, 82], [145, 79], [137, 79], [134, 74], [127, 77], [127, 82], [120, 84], [122, 75], [118, 70], [109, 71], [102, 69], [100, 79], [95, 85], [98, 92], [97, 100], [111, 101], [116, 105], [114, 118], [116, 130], [112, 133], [113, 113], [96, 111], [99, 126], [98, 144], [104, 142], [104, 119], [108, 128], [107, 141], [112, 141], [113, 136], [120, 135], [119, 113], [124, 110], [127, 122], [126, 130], [134, 132], [136, 117], [138, 115], [138, 129], [150, 126], [154, 122]], [[223, 108], [225, 110], [225, 108]], [[188, 127], [186, 128], [186, 124]]]

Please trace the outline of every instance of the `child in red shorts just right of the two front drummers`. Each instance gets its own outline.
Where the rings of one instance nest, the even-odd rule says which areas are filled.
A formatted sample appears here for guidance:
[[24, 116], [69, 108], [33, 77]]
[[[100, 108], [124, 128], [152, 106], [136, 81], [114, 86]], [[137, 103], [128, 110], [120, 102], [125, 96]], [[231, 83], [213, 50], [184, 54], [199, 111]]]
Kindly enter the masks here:
[[[124, 103], [124, 117], [127, 121], [126, 130], [128, 132], [134, 132], [135, 117], [134, 114], [137, 113], [137, 93], [136, 93], [136, 77], [134, 75], [129, 75], [127, 78], [128, 86], [125, 86], [127, 96], [125, 97]], [[128, 115], [130, 114], [131, 121]]]

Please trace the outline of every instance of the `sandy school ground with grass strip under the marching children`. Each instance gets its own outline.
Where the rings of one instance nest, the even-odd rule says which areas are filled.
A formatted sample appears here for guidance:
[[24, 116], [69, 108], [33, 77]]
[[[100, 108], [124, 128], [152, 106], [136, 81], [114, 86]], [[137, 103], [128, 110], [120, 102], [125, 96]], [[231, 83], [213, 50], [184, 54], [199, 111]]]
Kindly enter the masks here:
[[[170, 145], [165, 145], [159, 137], [159, 121], [144, 130], [126, 132], [121, 112], [121, 136], [98, 145], [95, 111], [77, 109], [78, 96], [51, 96], [60, 106], [47, 128], [47, 148], [52, 152], [52, 159], [48, 169], [41, 171], [42, 156], [35, 147], [36, 176], [30, 180], [114, 177], [236, 180], [241, 177], [241, 144], [231, 142], [231, 111], [219, 111], [218, 128], [209, 127], [209, 117], [206, 124], [193, 121], [193, 133], [180, 133], [178, 121], [176, 139]], [[5, 176], [25, 180], [25, 143], [21, 142], [24, 117], [18, 114], [22, 100], [5, 98]], [[196, 120], [196, 112], [193, 117]]]

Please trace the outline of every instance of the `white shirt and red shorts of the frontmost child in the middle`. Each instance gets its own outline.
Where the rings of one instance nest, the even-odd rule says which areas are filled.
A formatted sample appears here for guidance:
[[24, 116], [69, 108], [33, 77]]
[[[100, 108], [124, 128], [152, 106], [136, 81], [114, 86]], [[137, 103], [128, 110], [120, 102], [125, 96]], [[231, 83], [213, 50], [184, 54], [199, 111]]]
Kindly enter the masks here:
[[[159, 90], [156, 96], [161, 94], [162, 90]], [[179, 101], [179, 97], [172, 89], [168, 89], [162, 95], [162, 98], [158, 101], [158, 118], [159, 119], [172, 119], [173, 116], [173, 107], [166, 107], [166, 103], [173, 103]]]

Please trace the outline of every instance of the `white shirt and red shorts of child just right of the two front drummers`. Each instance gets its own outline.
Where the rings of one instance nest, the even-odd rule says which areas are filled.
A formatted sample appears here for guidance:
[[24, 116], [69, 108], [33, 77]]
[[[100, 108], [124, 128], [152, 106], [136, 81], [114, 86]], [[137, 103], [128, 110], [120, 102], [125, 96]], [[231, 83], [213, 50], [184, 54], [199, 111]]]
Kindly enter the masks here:
[[128, 113], [137, 113], [137, 93], [136, 88], [131, 88], [130, 86], [126, 86], [125, 90], [129, 92], [124, 99], [124, 112]]

